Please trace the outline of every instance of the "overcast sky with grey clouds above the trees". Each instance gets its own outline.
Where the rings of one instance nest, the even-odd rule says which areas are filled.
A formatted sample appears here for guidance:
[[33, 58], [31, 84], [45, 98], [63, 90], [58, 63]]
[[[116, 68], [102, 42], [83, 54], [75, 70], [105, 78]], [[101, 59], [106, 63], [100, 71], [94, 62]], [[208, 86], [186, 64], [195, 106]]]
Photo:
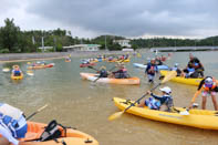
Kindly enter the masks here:
[[73, 37], [218, 35], [218, 0], [0, 0], [0, 27], [71, 30]]

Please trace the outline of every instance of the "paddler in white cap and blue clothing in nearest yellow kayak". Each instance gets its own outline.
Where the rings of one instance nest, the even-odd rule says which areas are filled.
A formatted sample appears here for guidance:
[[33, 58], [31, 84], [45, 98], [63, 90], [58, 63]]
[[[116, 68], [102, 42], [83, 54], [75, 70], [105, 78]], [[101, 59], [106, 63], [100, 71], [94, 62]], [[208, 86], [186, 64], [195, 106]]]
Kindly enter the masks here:
[[159, 89], [163, 92], [163, 96], [157, 96], [153, 94], [150, 91], [147, 93], [152, 96], [148, 100], [142, 101], [137, 106], [144, 107], [148, 106], [150, 110], [162, 110], [166, 112], [170, 112], [173, 107], [173, 97], [172, 97], [172, 89], [165, 86]]

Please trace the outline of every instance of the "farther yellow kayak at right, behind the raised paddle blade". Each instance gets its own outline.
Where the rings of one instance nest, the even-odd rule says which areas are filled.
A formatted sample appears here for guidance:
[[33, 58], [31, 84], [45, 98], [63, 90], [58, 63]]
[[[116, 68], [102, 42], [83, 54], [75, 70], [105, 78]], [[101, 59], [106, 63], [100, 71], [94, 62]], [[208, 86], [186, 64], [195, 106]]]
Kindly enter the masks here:
[[[160, 74], [162, 75], [167, 75], [169, 71], [160, 71]], [[176, 77], [173, 77], [170, 81], [174, 81], [174, 82], [177, 82], [177, 83], [183, 83], [183, 84], [189, 84], [189, 85], [199, 85], [200, 81], [203, 79], [186, 79], [186, 77], [181, 77], [181, 76], [176, 76]]]

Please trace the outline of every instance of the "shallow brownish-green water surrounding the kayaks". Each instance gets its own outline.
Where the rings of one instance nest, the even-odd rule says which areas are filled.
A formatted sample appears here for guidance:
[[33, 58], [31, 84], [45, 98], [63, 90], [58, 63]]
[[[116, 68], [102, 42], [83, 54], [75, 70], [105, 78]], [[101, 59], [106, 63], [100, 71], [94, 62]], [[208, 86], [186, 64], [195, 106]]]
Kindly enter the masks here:
[[[166, 62], [173, 65], [175, 62], [184, 68], [188, 62], [189, 52], [176, 52]], [[167, 54], [167, 53], [164, 53]], [[205, 74], [218, 79], [218, 52], [194, 52], [205, 65]], [[94, 72], [79, 66], [80, 59], [72, 58], [72, 62], [64, 60], [51, 60], [55, 63], [52, 69], [37, 70], [34, 76], [24, 75], [22, 81], [11, 81], [10, 73], [0, 72], [0, 102], [9, 103], [24, 111], [28, 116], [44, 104], [49, 106], [35, 115], [31, 121], [49, 123], [55, 118], [66, 126], [94, 136], [101, 145], [205, 145], [217, 144], [218, 132], [198, 130], [180, 125], [141, 118], [129, 114], [110, 122], [107, 117], [117, 112], [112, 99], [123, 97], [137, 100], [152, 86], [144, 77], [144, 70], [133, 68], [134, 62], [144, 63], [145, 58], [153, 58], [152, 53], [143, 54], [143, 58], [132, 58], [127, 63], [129, 74], [142, 79], [141, 85], [97, 84], [83, 81], [80, 72]], [[0, 64], [2, 70], [13, 64], [21, 65], [27, 72], [27, 62]], [[110, 70], [113, 63], [98, 63]], [[96, 66], [96, 68], [97, 68]], [[156, 80], [156, 83], [158, 80]], [[189, 86], [167, 82], [173, 90], [176, 106], [187, 106], [196, 91], [196, 86]], [[156, 90], [158, 94], [158, 90]], [[197, 99], [200, 104], [201, 99]], [[207, 108], [212, 110], [210, 100]]]

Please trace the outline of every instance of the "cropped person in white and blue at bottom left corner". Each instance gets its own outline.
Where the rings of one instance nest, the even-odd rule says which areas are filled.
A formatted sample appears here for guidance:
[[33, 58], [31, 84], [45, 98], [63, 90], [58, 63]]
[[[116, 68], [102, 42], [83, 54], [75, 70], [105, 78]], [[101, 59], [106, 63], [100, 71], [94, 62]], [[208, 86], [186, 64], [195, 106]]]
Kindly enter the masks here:
[[9, 104], [0, 103], [0, 145], [19, 145], [18, 138], [24, 138], [28, 124], [23, 112]]

